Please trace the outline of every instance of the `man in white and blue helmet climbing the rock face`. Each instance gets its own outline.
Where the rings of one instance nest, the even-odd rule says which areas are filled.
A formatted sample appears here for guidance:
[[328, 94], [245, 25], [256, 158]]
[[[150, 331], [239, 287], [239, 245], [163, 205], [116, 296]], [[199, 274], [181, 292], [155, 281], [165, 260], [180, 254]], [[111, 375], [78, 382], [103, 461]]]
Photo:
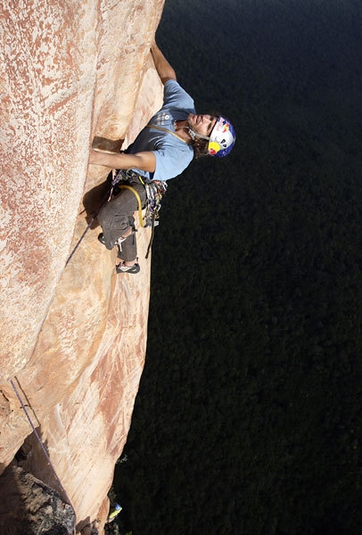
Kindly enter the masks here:
[[[91, 149], [89, 163], [119, 169], [120, 193], [103, 205], [98, 236], [107, 249], [119, 247], [117, 273], [138, 273], [133, 213], [147, 200], [146, 184], [177, 177], [193, 159], [203, 155], [224, 157], [234, 146], [231, 123], [221, 116], [198, 115], [193, 99], [177, 83], [175, 70], [155, 42], [151, 53], [164, 85], [163, 106], [126, 152]], [[164, 184], [164, 183], [163, 183]]]

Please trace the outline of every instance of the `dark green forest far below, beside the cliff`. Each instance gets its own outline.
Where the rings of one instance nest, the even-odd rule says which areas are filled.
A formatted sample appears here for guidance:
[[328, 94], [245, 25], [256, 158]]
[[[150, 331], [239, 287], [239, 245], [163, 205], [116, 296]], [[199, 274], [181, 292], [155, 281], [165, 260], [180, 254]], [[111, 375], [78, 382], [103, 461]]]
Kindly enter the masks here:
[[122, 534], [362, 533], [361, 32], [358, 0], [166, 0], [237, 140], [163, 200]]

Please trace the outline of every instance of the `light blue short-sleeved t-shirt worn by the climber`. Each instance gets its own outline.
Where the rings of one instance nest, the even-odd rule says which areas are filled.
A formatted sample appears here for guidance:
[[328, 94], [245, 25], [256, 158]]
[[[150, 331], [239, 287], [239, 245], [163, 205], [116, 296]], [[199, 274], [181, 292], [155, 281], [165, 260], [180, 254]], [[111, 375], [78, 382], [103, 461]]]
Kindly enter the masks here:
[[[175, 121], [185, 120], [189, 113], [195, 113], [193, 99], [177, 83], [168, 80], [164, 86], [163, 106], [148, 123], [175, 132]], [[127, 152], [152, 151], [156, 158], [154, 173], [134, 169], [143, 177], [152, 180], [169, 180], [177, 177], [193, 160], [193, 147], [169, 132], [156, 128], [144, 128], [136, 137]]]

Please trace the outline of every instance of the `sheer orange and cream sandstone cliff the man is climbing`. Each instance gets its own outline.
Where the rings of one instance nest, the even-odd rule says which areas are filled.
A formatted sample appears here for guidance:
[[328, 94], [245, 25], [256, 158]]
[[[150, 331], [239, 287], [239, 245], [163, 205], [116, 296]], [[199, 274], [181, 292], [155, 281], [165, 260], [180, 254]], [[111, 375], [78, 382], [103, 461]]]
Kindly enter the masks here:
[[[164, 0], [5, 0], [1, 11], [2, 471], [21, 465], [62, 495], [78, 529], [108, 512], [144, 366], [150, 259], [116, 276], [93, 226], [66, 267], [104, 168], [95, 139], [119, 148], [160, 106], [149, 47]], [[98, 196], [97, 196], [98, 195]], [[62, 481], [16, 397], [16, 384]], [[25, 444], [24, 444], [25, 440]]]

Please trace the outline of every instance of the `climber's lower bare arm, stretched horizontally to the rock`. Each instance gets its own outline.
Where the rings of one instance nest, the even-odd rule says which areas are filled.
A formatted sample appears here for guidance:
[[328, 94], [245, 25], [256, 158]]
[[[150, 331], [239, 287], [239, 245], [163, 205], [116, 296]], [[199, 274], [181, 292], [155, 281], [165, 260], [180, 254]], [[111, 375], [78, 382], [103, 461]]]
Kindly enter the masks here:
[[103, 165], [110, 169], [142, 169], [150, 173], [154, 173], [156, 169], [156, 157], [153, 152], [127, 154], [126, 152], [101, 152], [91, 149], [89, 163]]

